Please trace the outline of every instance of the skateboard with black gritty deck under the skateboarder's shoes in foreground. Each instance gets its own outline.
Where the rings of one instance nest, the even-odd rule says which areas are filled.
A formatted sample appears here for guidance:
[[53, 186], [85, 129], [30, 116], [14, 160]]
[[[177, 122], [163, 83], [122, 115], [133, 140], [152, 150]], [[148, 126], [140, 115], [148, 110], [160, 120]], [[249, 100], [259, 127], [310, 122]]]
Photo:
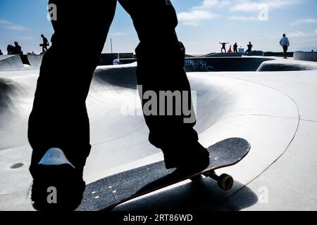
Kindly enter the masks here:
[[86, 186], [82, 203], [77, 210], [112, 210], [128, 200], [186, 179], [199, 181], [203, 176], [218, 181], [218, 186], [223, 190], [229, 190], [234, 182], [232, 176], [228, 174], [218, 176], [215, 170], [237, 164], [249, 153], [250, 148], [249, 142], [240, 138], [220, 141], [208, 148], [209, 167], [190, 176], [184, 174], [180, 176], [175, 169], [166, 169], [163, 161], [107, 176]]

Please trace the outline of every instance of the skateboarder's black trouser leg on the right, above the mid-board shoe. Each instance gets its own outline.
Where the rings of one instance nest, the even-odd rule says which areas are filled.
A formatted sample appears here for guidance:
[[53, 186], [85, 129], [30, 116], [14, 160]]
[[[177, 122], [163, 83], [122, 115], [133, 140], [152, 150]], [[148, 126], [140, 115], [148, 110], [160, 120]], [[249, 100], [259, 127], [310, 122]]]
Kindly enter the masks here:
[[[163, 110], [165, 115], [149, 115], [145, 112], [149, 101], [142, 98], [144, 117], [150, 131], [149, 141], [163, 150], [166, 166], [174, 167], [199, 146], [197, 132], [193, 129], [196, 119], [191, 107], [191, 89], [184, 70], [185, 49], [175, 33], [178, 24], [176, 13], [170, 1], [166, 0], [119, 2], [130, 13], [140, 40], [136, 53], [137, 82], [142, 85], [141, 97], [147, 93], [155, 93], [158, 100], [163, 101], [159, 91], [171, 91], [173, 94], [180, 94], [182, 100], [187, 101], [190, 115], [185, 115], [184, 110], [180, 110], [179, 115], [174, 112], [173, 116], [166, 115], [166, 110]], [[165, 56], [165, 59], [159, 60], [158, 53]], [[179, 105], [185, 106], [178, 103], [174, 102], [172, 107], [175, 109]], [[163, 108], [159, 104], [156, 107], [157, 112]], [[191, 119], [185, 120], [187, 117]]]

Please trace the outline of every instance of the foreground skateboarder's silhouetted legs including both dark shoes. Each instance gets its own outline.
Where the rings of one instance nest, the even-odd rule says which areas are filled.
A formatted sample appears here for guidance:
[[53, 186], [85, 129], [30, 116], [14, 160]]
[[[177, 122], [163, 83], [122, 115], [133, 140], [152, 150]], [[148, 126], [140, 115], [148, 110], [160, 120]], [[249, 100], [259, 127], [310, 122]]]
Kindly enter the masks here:
[[[137, 83], [142, 91], [188, 91], [184, 70], [185, 49], [178, 41], [175, 9], [169, 0], [118, 0], [135, 25]], [[92, 0], [86, 4], [50, 0], [57, 8], [54, 41], [46, 51], [39, 72], [28, 139], [32, 146], [30, 173], [33, 177], [32, 205], [37, 210], [74, 210], [82, 200], [85, 181], [82, 173], [91, 149], [85, 100], [92, 75], [114, 13], [116, 0]], [[65, 54], [70, 37], [73, 56], [87, 49], [89, 57]], [[170, 60], [161, 67], [151, 57], [155, 49]], [[78, 65], [78, 66], [73, 66]], [[142, 101], [143, 104], [149, 100]], [[175, 103], [173, 103], [175, 104]], [[159, 107], [159, 105], [158, 105]], [[192, 110], [193, 113], [193, 110]], [[181, 115], [146, 115], [149, 141], [161, 148], [166, 168], [180, 173], [200, 172], [209, 165], [209, 152], [198, 142], [195, 121], [185, 123]], [[56, 193], [52, 202], [48, 195]]]

